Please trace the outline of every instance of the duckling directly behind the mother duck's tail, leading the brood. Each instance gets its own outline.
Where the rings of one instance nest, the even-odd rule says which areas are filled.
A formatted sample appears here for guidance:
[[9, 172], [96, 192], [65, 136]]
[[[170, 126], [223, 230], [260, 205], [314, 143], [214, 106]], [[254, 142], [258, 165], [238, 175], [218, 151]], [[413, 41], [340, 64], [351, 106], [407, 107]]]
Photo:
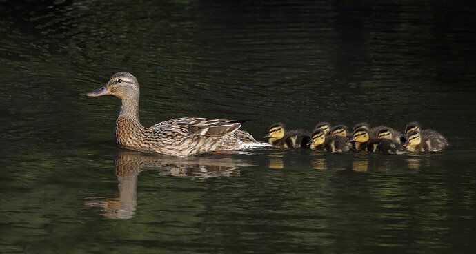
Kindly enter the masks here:
[[269, 144], [280, 148], [307, 148], [310, 141], [309, 135], [302, 130], [286, 132], [283, 123], [273, 124], [268, 130], [268, 135], [263, 138], [267, 138]]

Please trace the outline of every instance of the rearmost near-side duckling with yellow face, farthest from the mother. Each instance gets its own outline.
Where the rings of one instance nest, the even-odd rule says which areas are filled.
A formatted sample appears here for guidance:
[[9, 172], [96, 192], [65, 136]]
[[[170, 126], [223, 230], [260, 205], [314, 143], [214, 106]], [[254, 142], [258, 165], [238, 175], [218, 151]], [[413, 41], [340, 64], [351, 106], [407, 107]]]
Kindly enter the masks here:
[[439, 152], [449, 145], [445, 137], [434, 130], [411, 130], [406, 140], [404, 146], [410, 152]]

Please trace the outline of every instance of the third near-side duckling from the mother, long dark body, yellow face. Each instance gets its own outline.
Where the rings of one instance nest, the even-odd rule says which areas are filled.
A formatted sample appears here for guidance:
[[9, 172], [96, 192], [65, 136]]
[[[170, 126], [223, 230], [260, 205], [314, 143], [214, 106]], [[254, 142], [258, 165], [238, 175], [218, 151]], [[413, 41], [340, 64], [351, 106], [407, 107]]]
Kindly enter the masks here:
[[366, 150], [373, 153], [386, 153], [390, 155], [401, 155], [406, 153], [406, 150], [401, 144], [398, 144], [393, 139], [386, 138], [370, 138], [369, 130], [365, 128], [358, 128], [353, 133], [353, 138], [350, 139], [355, 150]]

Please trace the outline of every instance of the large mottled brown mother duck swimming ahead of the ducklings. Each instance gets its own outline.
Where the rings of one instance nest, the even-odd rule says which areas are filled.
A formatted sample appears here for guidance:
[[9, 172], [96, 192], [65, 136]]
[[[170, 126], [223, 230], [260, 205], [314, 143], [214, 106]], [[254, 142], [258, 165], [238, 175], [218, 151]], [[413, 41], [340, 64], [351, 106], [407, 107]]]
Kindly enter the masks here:
[[115, 95], [121, 99], [116, 140], [130, 150], [189, 156], [269, 146], [239, 130], [241, 121], [183, 117], [162, 121], [149, 128], [142, 126], [139, 121], [139, 82], [128, 72], [112, 75], [106, 85], [86, 95]]

